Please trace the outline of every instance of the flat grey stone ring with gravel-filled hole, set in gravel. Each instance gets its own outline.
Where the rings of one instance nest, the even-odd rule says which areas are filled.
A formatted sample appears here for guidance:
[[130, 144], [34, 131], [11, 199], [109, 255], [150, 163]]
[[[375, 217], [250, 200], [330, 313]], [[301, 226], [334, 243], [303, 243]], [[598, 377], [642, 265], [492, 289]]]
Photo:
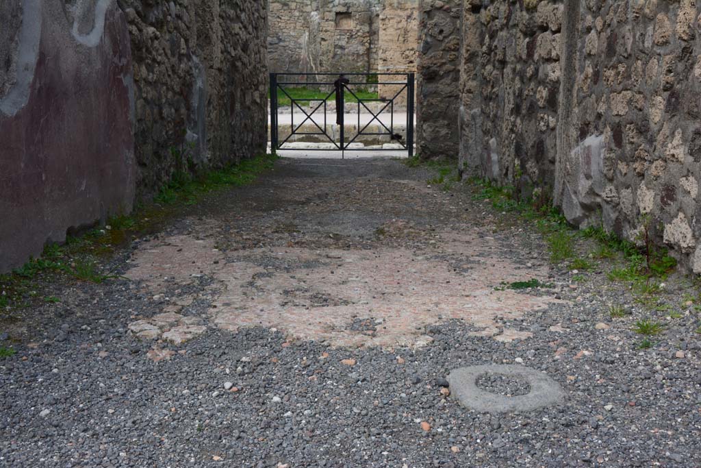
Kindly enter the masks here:
[[[526, 380], [531, 392], [519, 396], [505, 396], [487, 392], [477, 387], [477, 379], [485, 374], [504, 375]], [[564, 401], [562, 387], [544, 373], [525, 366], [493, 364], [486, 366], [462, 367], [448, 375], [450, 392], [470, 410], [485, 413], [508, 413], [511, 411], [531, 411], [545, 406], [553, 406]]]

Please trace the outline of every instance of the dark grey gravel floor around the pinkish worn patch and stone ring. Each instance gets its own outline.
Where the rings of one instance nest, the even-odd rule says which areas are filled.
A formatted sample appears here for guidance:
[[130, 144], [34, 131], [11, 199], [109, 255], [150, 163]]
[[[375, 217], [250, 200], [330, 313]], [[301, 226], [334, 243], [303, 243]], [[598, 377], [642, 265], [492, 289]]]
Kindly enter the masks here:
[[[427, 187], [429, 177], [399, 161], [283, 160], [257, 184], [189, 208], [108, 266], [128, 272], [132, 254], [148, 241], [205, 232], [224, 262], [260, 246], [402, 246], [421, 255], [436, 229], [465, 223], [489, 232], [498, 255], [523, 265], [524, 279], [547, 264], [541, 236], [528, 225], [492, 213], [465, 187]], [[401, 235], [378, 230], [397, 220]], [[458, 276], [475, 261], [434, 256]], [[270, 272], [314, 267], [255, 260]], [[37, 305], [13, 323], [18, 353], [0, 360], [0, 466], [701, 466], [701, 336], [697, 312], [681, 305], [693, 290], [681, 276], [669, 279], [662, 297], [681, 313], [667, 316], [608, 281], [608, 267], [578, 273], [583, 281], [573, 281], [565, 266], [550, 268], [552, 288], [524, 293], [562, 302], [498, 318], [533, 334], [523, 340], [477, 336], [460, 320], [420, 330], [433, 339], [423, 347], [349, 349], [291, 340], [285, 330], [210, 328], [181, 345], [163, 343], [173, 355], [158, 362], [147, 358], [154, 343], [137, 340], [128, 323], [163, 312], [165, 298], [154, 300], [142, 284], [124, 279], [46, 285], [60, 302]], [[180, 312], [185, 316], [205, 316], [219, 294], [207, 274], [165, 288], [165, 297], [196, 295]], [[611, 319], [612, 304], [624, 305], [627, 315]], [[639, 349], [641, 336], [632, 331], [643, 317], [665, 325], [650, 349]], [[348, 317], [348, 333], [374, 335], [381, 326], [362, 304]], [[543, 370], [562, 385], [566, 401], [531, 413], [465, 410], [447, 395], [444, 377], [484, 363]], [[498, 394], [526, 391], [503, 377], [479, 385]]]

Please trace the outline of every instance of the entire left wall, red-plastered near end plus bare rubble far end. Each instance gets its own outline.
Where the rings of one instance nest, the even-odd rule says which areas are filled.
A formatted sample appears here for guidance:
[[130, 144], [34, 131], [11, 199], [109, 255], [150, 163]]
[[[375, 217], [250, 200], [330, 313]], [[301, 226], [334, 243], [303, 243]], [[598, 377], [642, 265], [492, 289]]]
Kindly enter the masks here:
[[7, 0], [0, 25], [0, 272], [266, 150], [265, 0]]

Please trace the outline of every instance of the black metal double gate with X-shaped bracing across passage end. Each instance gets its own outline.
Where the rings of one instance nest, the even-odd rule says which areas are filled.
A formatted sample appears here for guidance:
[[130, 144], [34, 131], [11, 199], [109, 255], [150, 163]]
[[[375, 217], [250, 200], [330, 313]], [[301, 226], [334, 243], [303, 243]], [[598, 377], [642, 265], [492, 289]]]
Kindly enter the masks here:
[[[294, 81], [303, 78], [304, 81]], [[306, 86], [318, 87], [318, 95], [300, 97], [295, 95], [295, 88]], [[362, 98], [358, 91], [358, 86], [392, 86], [390, 97], [380, 98], [379, 93], [376, 98]], [[299, 148], [290, 147], [290, 142], [297, 137], [313, 137], [323, 141], [331, 142], [331, 151], [397, 151], [396, 147], [372, 147], [361, 148], [353, 143], [364, 136], [375, 136], [379, 138], [387, 137], [389, 142], [400, 145], [400, 151], [406, 150], [408, 156], [414, 156], [414, 74], [413, 73], [271, 73], [270, 74], [270, 119], [271, 119], [271, 149], [275, 153], [280, 149], [301, 150], [301, 151], [329, 151], [329, 148]], [[290, 100], [290, 132], [280, 133], [282, 125], [280, 123], [282, 110], [278, 99], [278, 93], [287, 101]], [[334, 123], [337, 127], [335, 131], [329, 130], [327, 119], [327, 102], [332, 100], [335, 103], [335, 111], [332, 113]], [[397, 101], [406, 102], [406, 121], [397, 121]], [[346, 123], [356, 123], [354, 114], [347, 114], [346, 102], [358, 103], [357, 126], [350, 133], [347, 132]], [[380, 104], [371, 109], [369, 102], [379, 102]], [[308, 104], [303, 104], [308, 103]], [[285, 102], [286, 106], [286, 102]], [[305, 108], [306, 107], [306, 108]], [[322, 112], [321, 112], [322, 111]], [[294, 114], [299, 115], [298, 123], [295, 123]], [[323, 113], [323, 120], [320, 114]], [[315, 120], [317, 116], [317, 120]], [[361, 123], [361, 116], [367, 122]], [[350, 122], [349, 119], [353, 119]], [[348, 122], [347, 122], [348, 121]], [[371, 124], [376, 122], [375, 130], [369, 131]], [[311, 125], [309, 125], [311, 124]], [[402, 124], [404, 127], [402, 128]], [[305, 128], [306, 125], [306, 128]], [[310, 128], [311, 131], [310, 131]], [[331, 127], [334, 129], [333, 125]], [[404, 133], [402, 135], [402, 133]], [[287, 147], [285, 146], [287, 145]], [[351, 147], [353, 145], [353, 147]]]

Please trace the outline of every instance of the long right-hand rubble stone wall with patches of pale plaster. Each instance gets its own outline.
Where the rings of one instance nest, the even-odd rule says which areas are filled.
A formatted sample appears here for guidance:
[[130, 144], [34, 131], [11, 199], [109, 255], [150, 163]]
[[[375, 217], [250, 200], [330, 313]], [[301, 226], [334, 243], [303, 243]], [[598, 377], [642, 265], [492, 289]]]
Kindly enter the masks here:
[[461, 166], [701, 272], [697, 1], [471, 1]]

